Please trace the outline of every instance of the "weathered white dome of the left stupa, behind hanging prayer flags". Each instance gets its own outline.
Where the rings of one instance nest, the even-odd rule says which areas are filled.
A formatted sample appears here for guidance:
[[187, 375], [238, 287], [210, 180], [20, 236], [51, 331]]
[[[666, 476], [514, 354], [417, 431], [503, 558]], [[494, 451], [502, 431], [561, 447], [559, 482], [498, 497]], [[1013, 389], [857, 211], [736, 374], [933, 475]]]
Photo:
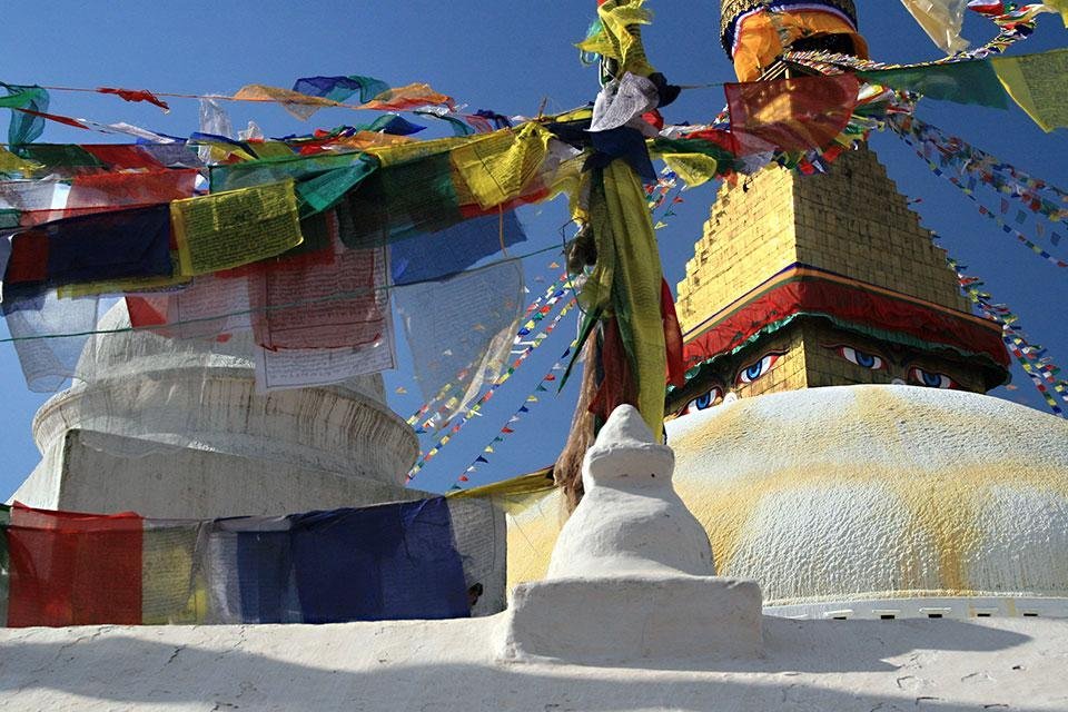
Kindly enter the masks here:
[[129, 326], [125, 300], [100, 319], [105, 333], [82, 350], [75, 386], [33, 419], [42, 453], [79, 428], [128, 436], [138, 447], [160, 443], [404, 485], [418, 444], [387, 407], [379, 374], [260, 394], [249, 330], [220, 340]]

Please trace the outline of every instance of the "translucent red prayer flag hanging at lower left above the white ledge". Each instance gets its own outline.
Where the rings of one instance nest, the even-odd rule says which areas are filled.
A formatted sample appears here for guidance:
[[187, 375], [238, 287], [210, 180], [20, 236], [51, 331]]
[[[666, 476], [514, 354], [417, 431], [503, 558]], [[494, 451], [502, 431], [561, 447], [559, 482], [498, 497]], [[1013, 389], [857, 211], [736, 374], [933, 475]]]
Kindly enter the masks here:
[[11, 507], [8, 625], [141, 623], [142, 520]]

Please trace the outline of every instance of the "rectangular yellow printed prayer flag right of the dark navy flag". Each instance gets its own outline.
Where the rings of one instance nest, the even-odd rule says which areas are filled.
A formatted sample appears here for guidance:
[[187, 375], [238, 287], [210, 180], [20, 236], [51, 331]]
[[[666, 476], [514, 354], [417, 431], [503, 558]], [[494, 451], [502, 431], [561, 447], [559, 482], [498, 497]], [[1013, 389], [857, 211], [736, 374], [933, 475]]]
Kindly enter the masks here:
[[172, 201], [180, 274], [240, 267], [303, 243], [293, 187], [290, 179]]

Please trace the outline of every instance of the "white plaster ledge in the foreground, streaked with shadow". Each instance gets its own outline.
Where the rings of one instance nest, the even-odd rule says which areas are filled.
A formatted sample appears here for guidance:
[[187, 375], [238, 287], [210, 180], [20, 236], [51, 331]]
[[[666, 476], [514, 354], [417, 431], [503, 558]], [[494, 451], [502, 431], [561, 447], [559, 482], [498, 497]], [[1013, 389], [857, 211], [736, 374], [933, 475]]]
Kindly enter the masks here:
[[2, 630], [0, 709], [1068, 709], [1062, 621], [767, 619], [762, 659], [610, 666], [500, 662], [492, 639], [502, 617]]

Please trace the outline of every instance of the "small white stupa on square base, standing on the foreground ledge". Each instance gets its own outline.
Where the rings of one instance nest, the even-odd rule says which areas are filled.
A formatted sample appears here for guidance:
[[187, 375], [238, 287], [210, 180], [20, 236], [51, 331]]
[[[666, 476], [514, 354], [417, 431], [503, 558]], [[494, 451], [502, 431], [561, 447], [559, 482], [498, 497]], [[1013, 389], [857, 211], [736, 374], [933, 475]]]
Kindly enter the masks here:
[[672, 486], [674, 464], [637, 409], [612, 413], [586, 453], [585, 496], [560, 533], [548, 575], [513, 592], [503, 659], [760, 653], [760, 589], [713, 575], [709, 537]]

